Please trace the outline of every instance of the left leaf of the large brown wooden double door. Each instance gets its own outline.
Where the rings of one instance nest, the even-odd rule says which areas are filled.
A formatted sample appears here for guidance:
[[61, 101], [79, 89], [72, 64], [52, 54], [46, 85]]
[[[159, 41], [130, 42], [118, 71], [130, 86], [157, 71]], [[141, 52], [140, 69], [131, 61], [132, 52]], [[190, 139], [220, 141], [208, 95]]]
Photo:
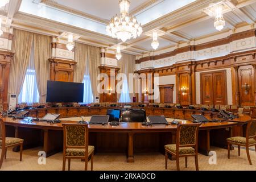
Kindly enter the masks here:
[[213, 104], [212, 74], [200, 73], [201, 104]]

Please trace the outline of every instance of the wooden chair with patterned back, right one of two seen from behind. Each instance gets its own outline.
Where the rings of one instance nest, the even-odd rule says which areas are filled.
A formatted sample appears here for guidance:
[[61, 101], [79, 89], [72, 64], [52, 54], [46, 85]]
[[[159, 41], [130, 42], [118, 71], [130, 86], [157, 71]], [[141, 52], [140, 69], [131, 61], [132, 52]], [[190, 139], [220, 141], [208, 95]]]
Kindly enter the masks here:
[[185, 157], [185, 167], [188, 166], [188, 156], [195, 156], [196, 170], [198, 167], [198, 131], [200, 124], [179, 124], [177, 125], [176, 144], [167, 144], [164, 146], [166, 154], [166, 169], [168, 154], [176, 156], [177, 171], [180, 170], [179, 158]]

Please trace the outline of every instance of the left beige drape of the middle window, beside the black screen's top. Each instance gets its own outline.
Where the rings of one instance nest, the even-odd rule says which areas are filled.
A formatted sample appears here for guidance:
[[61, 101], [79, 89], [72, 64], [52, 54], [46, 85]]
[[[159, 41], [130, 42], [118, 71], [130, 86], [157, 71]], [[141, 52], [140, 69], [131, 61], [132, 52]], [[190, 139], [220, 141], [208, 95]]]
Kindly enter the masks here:
[[85, 68], [88, 67], [89, 62], [88, 45], [75, 42], [75, 61], [77, 64], [74, 71], [74, 82], [82, 82]]

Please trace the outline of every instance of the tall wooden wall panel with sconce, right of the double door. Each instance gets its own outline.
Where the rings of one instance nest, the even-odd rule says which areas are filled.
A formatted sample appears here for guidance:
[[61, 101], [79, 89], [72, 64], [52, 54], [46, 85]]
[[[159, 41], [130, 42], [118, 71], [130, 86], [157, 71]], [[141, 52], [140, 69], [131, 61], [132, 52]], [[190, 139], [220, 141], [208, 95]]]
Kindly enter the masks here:
[[[254, 105], [254, 71], [253, 66], [247, 65], [242, 66], [238, 69], [239, 76], [239, 89], [240, 89], [240, 99], [242, 106], [253, 106]], [[242, 88], [242, 85], [249, 84], [250, 88], [248, 93]]]

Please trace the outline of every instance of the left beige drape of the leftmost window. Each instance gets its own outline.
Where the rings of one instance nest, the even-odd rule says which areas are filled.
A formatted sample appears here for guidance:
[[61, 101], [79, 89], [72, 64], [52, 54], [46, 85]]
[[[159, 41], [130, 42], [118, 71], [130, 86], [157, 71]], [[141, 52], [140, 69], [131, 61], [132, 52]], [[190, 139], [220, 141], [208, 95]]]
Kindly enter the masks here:
[[13, 31], [14, 40], [12, 52], [14, 59], [10, 65], [9, 94], [19, 96], [20, 90], [26, 76], [28, 62], [33, 42], [33, 33], [16, 30]]

